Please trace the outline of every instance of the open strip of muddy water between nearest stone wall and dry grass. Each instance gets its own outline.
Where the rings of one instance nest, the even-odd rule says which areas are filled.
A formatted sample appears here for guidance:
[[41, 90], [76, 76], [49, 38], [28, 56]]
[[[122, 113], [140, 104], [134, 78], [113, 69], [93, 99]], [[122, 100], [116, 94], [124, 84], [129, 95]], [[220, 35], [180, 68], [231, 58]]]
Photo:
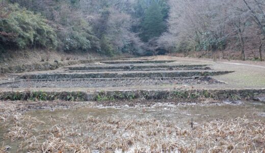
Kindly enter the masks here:
[[191, 118], [194, 122], [205, 122], [209, 120], [218, 119], [221, 117], [252, 117], [265, 121], [265, 104], [255, 101], [237, 101], [236, 105], [231, 104], [215, 104], [215, 105], [165, 105], [157, 104], [152, 107], [138, 107], [138, 108], [102, 108], [102, 107], [85, 107], [76, 110], [41, 110], [31, 111], [27, 113], [31, 116], [36, 116], [38, 119], [47, 121], [48, 116], [61, 117], [64, 115], [87, 117], [93, 116], [95, 118], [105, 118], [109, 116], [116, 116], [121, 119], [146, 119], [156, 118], [158, 120], [179, 121], [183, 125], [188, 123]]

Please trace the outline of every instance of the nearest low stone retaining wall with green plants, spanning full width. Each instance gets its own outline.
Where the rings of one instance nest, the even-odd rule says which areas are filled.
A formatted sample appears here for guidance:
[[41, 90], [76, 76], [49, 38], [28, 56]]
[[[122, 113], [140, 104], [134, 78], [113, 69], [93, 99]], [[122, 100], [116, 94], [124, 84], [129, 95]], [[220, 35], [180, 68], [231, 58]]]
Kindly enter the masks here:
[[86, 92], [2, 92], [0, 100], [130, 100], [130, 99], [179, 99], [200, 100], [211, 98], [215, 100], [250, 99], [265, 94], [265, 89], [218, 89], [218, 90], [119, 90]]

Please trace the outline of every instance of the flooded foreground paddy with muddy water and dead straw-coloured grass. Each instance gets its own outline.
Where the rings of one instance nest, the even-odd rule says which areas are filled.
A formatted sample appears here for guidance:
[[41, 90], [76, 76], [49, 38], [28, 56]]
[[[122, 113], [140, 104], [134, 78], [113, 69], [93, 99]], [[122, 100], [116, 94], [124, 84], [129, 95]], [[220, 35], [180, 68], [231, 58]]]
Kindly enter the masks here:
[[262, 152], [265, 104], [1, 111], [0, 152]]

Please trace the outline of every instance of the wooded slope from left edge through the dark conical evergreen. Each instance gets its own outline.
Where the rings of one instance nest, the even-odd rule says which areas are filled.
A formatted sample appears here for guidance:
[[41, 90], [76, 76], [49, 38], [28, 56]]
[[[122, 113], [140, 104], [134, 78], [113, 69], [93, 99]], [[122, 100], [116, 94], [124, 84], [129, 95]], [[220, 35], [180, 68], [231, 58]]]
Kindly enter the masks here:
[[42, 48], [110, 57], [143, 55], [148, 45], [142, 40], [157, 38], [167, 29], [168, 10], [166, 1], [153, 0], [2, 0], [0, 47], [2, 52]]

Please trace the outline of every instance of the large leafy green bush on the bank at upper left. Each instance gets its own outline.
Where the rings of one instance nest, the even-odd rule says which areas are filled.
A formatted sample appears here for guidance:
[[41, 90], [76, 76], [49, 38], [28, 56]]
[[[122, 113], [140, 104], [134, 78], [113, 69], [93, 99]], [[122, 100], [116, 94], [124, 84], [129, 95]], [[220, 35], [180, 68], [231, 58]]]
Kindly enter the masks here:
[[16, 4], [8, 4], [1, 11], [10, 12], [6, 18], [0, 19], [0, 42], [2, 47], [57, 46], [57, 36], [54, 29], [40, 14], [21, 9]]

